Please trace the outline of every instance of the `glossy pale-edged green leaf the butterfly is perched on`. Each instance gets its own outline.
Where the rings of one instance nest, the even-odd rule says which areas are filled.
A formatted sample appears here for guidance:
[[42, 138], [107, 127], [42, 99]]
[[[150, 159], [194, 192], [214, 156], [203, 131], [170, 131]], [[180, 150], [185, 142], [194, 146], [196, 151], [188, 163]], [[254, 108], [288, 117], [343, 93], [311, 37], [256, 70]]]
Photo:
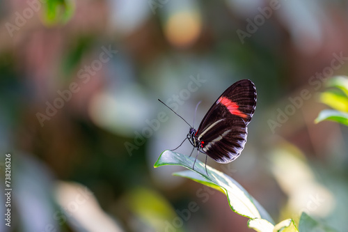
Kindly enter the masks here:
[[260, 206], [260, 203], [258, 203], [253, 196], [248, 194], [248, 192], [246, 192], [242, 185], [239, 185], [237, 181], [209, 166], [207, 166], [207, 172], [209, 174], [209, 176], [207, 176], [207, 173], [205, 172], [205, 164], [199, 160], [196, 161], [195, 169], [193, 170], [192, 167], [194, 160], [193, 157], [174, 153], [171, 150], [165, 150], [161, 156], [159, 156], [154, 167], [156, 168], [164, 165], [180, 165], [185, 167], [191, 171], [181, 171], [175, 173], [175, 175], [189, 178], [198, 183], [202, 183], [203, 185], [220, 190], [228, 197], [230, 208], [239, 215], [251, 219], [262, 218], [274, 223], [267, 211]]

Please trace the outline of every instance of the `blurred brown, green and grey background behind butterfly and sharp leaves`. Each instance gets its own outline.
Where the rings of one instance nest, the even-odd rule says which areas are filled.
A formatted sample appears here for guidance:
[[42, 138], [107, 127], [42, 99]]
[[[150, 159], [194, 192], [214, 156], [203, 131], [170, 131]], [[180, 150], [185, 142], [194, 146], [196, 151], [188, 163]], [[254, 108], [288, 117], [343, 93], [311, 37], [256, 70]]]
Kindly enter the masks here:
[[0, 186], [10, 153], [13, 187], [0, 231], [252, 231], [221, 192], [153, 168], [189, 130], [157, 98], [189, 123], [201, 100], [198, 127], [239, 79], [258, 91], [246, 148], [208, 165], [276, 222], [304, 210], [347, 228], [347, 127], [314, 123], [325, 79], [348, 73], [347, 1], [15, 0], [0, 11]]

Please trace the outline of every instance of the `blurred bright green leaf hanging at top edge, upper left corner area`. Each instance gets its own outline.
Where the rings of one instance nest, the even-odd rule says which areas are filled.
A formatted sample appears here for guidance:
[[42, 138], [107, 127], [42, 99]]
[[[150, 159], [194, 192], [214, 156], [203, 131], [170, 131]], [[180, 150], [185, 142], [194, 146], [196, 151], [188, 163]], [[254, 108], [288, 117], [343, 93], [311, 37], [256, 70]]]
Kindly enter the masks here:
[[73, 14], [73, 0], [48, 0], [45, 3], [44, 22], [47, 25], [65, 24]]

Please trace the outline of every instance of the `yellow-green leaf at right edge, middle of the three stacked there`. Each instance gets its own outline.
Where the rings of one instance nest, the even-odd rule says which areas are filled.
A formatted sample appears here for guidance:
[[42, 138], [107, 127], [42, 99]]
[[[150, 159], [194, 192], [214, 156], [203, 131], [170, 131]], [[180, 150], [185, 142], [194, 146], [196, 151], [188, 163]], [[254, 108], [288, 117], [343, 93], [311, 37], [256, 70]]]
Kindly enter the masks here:
[[326, 91], [320, 94], [320, 101], [338, 111], [348, 112], [348, 98], [345, 95]]

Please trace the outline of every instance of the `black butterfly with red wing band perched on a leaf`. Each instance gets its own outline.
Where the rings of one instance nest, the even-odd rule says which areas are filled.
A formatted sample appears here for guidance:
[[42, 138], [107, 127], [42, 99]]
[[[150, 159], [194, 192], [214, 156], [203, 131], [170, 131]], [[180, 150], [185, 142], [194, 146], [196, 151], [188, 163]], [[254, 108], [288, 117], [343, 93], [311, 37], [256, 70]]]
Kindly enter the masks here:
[[[242, 79], [232, 84], [219, 96], [207, 111], [207, 114], [205, 114], [197, 130], [177, 114], [190, 125], [186, 139], [189, 139], [193, 150], [194, 148], [198, 150], [196, 159], [193, 162], [193, 169], [200, 152], [221, 164], [227, 164], [239, 157], [246, 144], [247, 126], [255, 112], [256, 99], [255, 84], [249, 79]], [[159, 101], [162, 102], [161, 100]], [[164, 104], [164, 102], [162, 103]], [[196, 111], [198, 105], [196, 106]], [[170, 107], [168, 108], [171, 109]], [[173, 109], [171, 110], [173, 111]], [[173, 112], [175, 113], [175, 111]], [[184, 141], [182, 141], [180, 146]], [[207, 156], [205, 157], [206, 172]]]

